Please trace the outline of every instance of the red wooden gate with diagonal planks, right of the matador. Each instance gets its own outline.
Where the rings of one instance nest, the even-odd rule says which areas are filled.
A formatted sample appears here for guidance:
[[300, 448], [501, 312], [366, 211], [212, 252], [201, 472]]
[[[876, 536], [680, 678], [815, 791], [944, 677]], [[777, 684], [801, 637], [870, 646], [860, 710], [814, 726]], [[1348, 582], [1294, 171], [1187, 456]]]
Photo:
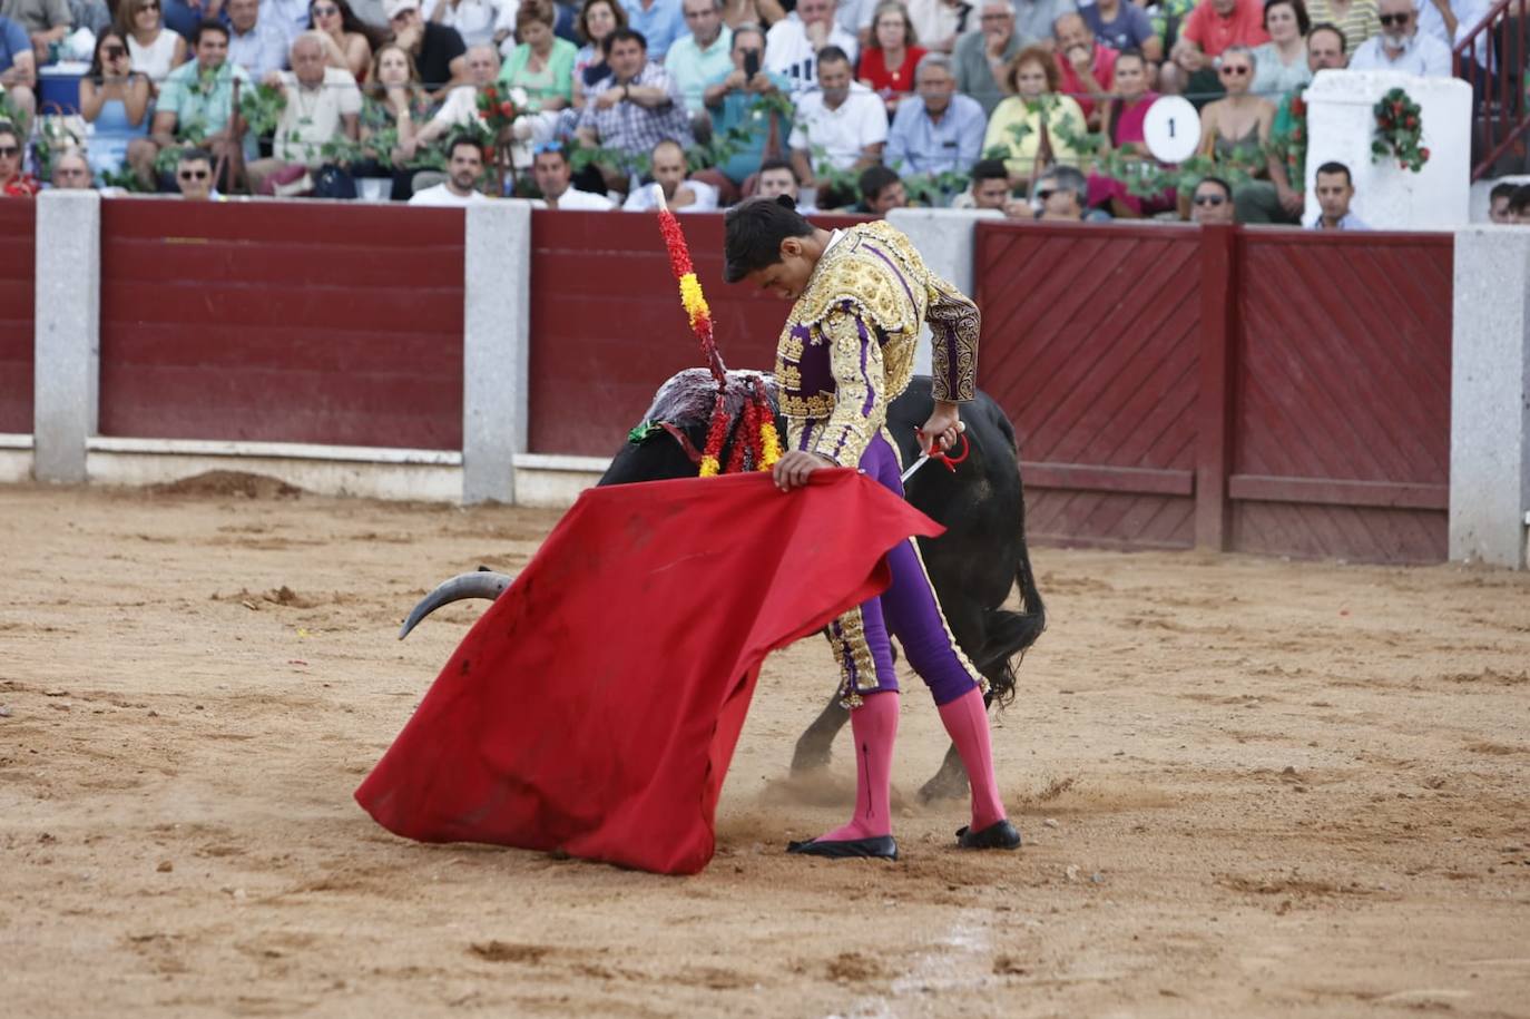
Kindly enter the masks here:
[[1039, 540], [1446, 557], [1447, 234], [979, 223]]

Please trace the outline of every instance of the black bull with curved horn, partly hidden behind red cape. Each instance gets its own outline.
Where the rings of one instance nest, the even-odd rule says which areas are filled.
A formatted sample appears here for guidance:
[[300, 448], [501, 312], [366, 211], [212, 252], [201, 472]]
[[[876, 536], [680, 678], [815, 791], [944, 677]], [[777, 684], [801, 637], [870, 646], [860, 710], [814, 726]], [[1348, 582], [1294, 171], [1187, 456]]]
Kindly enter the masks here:
[[[728, 462], [733, 442], [742, 442], [737, 425], [750, 398], [754, 373], [730, 372], [725, 402], [730, 413]], [[777, 409], [776, 384], [763, 376], [767, 395]], [[704, 369], [688, 369], [670, 378], [653, 398], [643, 422], [612, 457], [600, 485], [695, 477], [716, 399], [716, 383]], [[904, 464], [920, 456], [916, 428], [933, 407], [932, 383], [915, 376], [887, 407], [887, 430]], [[1014, 427], [987, 393], [962, 407], [965, 459], [955, 471], [927, 464], [904, 485], [909, 502], [946, 528], [938, 539], [918, 539], [924, 566], [950, 624], [952, 636], [973, 666], [987, 678], [988, 705], [1014, 698], [1014, 669], [1047, 626], [1047, 609], [1036, 589], [1025, 546], [1025, 493], [1021, 482]], [[776, 418], [785, 435], [785, 421]], [[410, 612], [399, 633], [405, 636], [422, 618], [448, 601], [496, 598], [513, 578], [479, 571], [442, 583]], [[1013, 588], [1021, 591], [1021, 612], [1004, 607]], [[794, 773], [823, 767], [831, 759], [835, 734], [849, 713], [837, 693], [797, 739], [791, 759]], [[956, 748], [946, 753], [936, 774], [920, 788], [923, 800], [962, 796], [967, 774]]]

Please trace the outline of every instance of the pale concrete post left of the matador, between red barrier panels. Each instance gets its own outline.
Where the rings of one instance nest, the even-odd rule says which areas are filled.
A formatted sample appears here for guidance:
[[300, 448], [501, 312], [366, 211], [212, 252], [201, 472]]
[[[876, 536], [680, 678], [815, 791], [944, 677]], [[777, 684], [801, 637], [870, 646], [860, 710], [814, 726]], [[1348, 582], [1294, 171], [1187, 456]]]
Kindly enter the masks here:
[[531, 203], [468, 205], [462, 256], [462, 502], [513, 503], [531, 413]]

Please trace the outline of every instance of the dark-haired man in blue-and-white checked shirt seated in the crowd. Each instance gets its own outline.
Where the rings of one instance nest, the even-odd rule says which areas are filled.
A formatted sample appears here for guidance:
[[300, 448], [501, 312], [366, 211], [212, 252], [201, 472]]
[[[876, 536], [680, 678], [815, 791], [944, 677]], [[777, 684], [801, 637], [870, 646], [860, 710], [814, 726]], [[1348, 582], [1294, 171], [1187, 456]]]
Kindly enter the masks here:
[[578, 119], [584, 144], [626, 156], [624, 167], [603, 167], [607, 190], [626, 191], [632, 165], [666, 138], [690, 145], [690, 116], [675, 80], [649, 60], [641, 32], [617, 29], [606, 37], [610, 75], [601, 78]]

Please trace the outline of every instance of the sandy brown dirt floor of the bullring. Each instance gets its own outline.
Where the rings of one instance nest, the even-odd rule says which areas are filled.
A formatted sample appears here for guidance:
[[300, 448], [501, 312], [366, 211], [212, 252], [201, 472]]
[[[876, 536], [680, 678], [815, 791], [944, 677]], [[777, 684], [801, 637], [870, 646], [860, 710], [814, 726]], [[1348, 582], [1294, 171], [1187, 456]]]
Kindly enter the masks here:
[[1036, 549], [1017, 854], [915, 802], [923, 693], [904, 860], [783, 854], [852, 779], [786, 780], [819, 641], [767, 664], [699, 877], [390, 835], [352, 789], [480, 606], [398, 621], [555, 520], [0, 488], [0, 1013], [1530, 1014], [1530, 577]]

